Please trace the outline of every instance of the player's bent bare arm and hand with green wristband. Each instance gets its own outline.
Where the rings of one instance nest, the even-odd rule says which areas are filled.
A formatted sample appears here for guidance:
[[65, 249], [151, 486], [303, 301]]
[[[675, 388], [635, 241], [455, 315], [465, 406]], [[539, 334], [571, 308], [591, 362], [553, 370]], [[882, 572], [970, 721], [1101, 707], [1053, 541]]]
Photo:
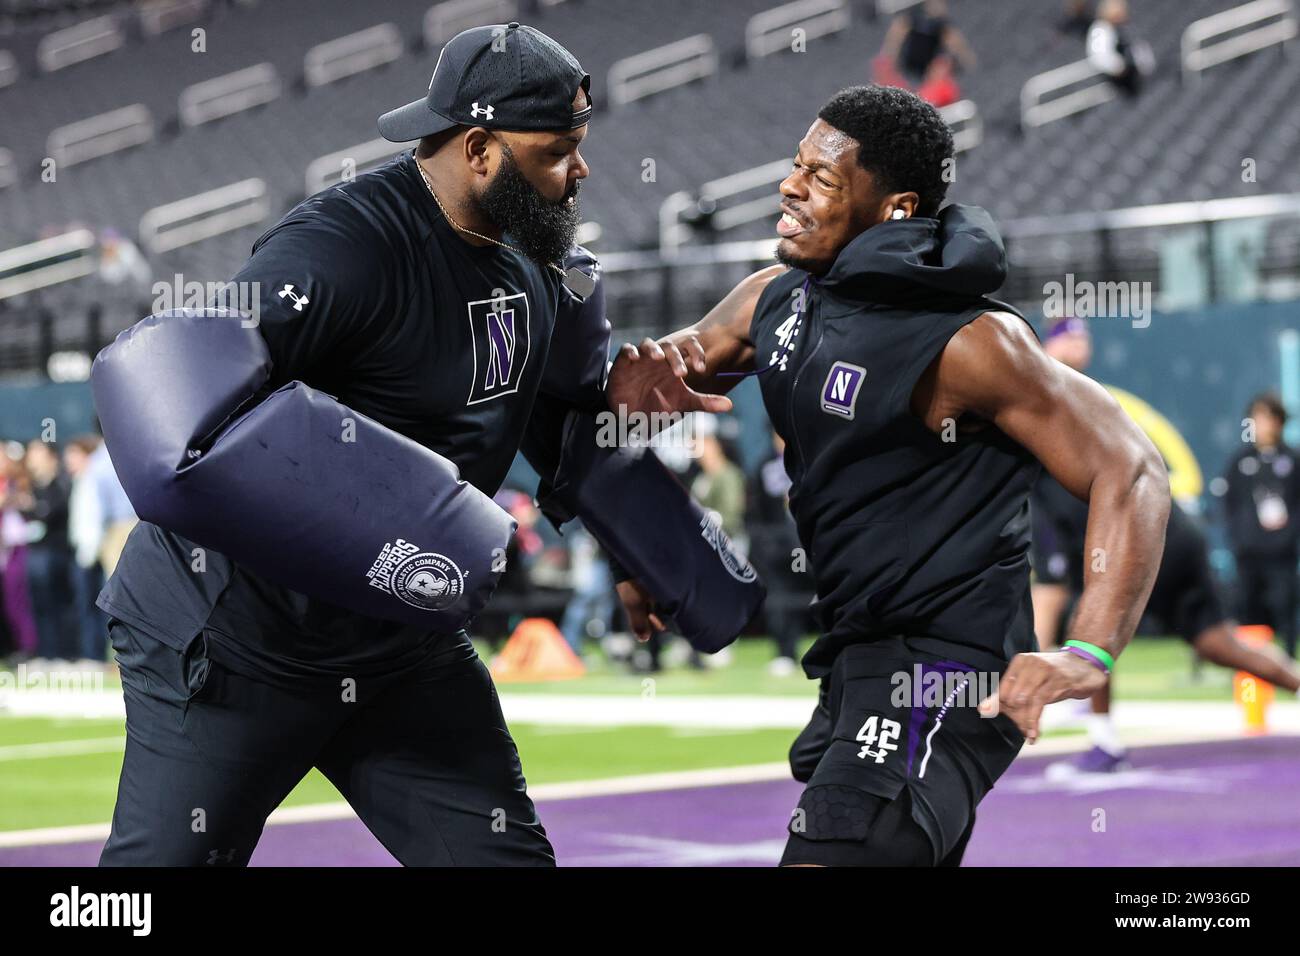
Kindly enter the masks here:
[[[918, 382], [913, 412], [935, 432], [954, 421], [958, 431], [1001, 429], [1088, 502], [1087, 575], [1071, 637], [1118, 657], [1156, 580], [1170, 507], [1164, 462], [1141, 429], [1105, 389], [1048, 356], [1022, 320], [1002, 312], [953, 336]], [[987, 705], [1032, 743], [1046, 704], [1088, 697], [1105, 682], [1072, 654], [1019, 654]]]

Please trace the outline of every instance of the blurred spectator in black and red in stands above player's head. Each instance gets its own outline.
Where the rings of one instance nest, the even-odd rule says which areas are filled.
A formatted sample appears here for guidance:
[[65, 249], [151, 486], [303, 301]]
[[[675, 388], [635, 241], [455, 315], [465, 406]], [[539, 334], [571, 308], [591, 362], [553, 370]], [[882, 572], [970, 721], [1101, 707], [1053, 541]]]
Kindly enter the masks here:
[[878, 83], [915, 90], [922, 99], [945, 107], [961, 99], [954, 75], [958, 64], [974, 69], [975, 53], [949, 21], [945, 0], [926, 0], [894, 17], [874, 69]]

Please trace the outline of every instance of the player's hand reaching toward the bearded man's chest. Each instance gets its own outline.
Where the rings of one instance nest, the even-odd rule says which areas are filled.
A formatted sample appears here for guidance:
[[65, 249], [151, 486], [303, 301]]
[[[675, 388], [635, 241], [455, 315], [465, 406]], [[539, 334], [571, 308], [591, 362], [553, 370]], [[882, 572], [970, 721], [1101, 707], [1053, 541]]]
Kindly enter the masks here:
[[659, 339], [641, 339], [636, 346], [628, 342], [619, 349], [604, 390], [610, 408], [627, 412], [731, 411], [732, 402], [725, 395], [696, 392], [686, 384], [686, 376], [703, 375], [705, 349], [693, 333], [679, 333]]

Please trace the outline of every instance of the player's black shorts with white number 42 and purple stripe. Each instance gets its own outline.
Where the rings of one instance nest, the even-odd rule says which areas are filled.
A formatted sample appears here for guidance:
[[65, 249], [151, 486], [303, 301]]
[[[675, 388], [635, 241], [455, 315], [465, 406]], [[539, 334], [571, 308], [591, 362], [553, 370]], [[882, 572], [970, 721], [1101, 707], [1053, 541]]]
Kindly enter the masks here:
[[993, 674], [902, 637], [841, 650], [790, 748], [807, 787], [781, 864], [956, 865], [975, 808], [1024, 743], [1010, 718], [979, 715], [993, 689]]

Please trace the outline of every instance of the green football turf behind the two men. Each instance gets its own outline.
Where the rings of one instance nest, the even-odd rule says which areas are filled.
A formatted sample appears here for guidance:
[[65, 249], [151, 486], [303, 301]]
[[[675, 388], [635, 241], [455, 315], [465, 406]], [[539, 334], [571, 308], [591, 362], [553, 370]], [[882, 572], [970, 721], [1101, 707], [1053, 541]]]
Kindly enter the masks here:
[[[731, 665], [651, 676], [595, 661], [577, 680], [504, 684], [503, 695], [646, 695], [803, 697], [815, 685], [767, 674], [771, 644], [742, 641]], [[1213, 667], [1195, 674], [1178, 640], [1141, 639], [1123, 657], [1117, 698], [1230, 700], [1231, 675]], [[113, 680], [105, 680], [113, 687]], [[719, 706], [725, 706], [720, 701]], [[529, 784], [593, 780], [630, 774], [744, 766], [785, 760], [794, 730], [671, 726], [566, 726], [512, 723]], [[1078, 731], [1074, 731], [1078, 732]], [[0, 830], [101, 823], [112, 816], [121, 767], [124, 726], [114, 719], [13, 717], [0, 711]], [[308, 775], [285, 805], [339, 800], [318, 773]]]

